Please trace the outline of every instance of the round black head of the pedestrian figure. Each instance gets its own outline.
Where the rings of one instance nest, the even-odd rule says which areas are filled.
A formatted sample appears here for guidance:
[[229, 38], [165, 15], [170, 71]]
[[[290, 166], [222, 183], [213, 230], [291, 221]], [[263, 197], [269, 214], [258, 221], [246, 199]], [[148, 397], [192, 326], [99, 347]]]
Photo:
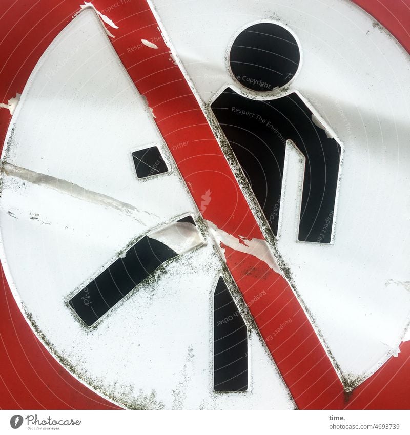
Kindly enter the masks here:
[[229, 55], [232, 73], [252, 91], [271, 92], [296, 74], [300, 50], [289, 30], [274, 23], [259, 23], [243, 30]]

